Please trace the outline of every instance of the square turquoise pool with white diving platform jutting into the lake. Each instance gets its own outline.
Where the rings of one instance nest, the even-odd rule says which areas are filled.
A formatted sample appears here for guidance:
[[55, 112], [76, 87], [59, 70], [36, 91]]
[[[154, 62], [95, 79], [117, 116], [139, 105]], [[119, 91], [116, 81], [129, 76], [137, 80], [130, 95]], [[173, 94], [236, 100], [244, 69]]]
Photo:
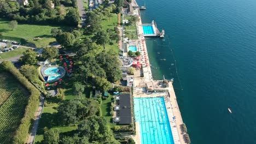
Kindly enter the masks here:
[[165, 31], [162, 29], [160, 32], [158, 29], [158, 26], [156, 25], [155, 21], [152, 21], [152, 23], [143, 23], [142, 25], [143, 29], [143, 36], [144, 37], [160, 37], [164, 38]]

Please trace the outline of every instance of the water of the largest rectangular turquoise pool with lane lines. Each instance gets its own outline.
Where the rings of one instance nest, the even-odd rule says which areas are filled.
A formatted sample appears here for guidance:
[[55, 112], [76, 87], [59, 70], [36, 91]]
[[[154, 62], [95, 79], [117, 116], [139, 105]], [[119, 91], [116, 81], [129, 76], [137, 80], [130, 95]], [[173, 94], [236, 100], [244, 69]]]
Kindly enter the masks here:
[[134, 98], [142, 144], [174, 144], [164, 97]]

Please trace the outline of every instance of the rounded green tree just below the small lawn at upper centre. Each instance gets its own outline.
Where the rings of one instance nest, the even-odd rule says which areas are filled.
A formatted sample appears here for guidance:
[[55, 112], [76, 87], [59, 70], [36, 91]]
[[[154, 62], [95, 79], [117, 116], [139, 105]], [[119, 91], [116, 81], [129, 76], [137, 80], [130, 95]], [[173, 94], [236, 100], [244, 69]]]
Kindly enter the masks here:
[[106, 44], [109, 43], [109, 35], [106, 31], [99, 31], [95, 34], [94, 39], [96, 40], [96, 44], [102, 45], [104, 49], [106, 49]]

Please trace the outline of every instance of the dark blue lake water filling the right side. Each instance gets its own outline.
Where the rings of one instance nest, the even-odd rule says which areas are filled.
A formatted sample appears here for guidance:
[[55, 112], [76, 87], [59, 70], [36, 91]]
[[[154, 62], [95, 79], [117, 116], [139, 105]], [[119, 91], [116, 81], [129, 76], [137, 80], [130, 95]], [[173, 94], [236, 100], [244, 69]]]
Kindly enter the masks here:
[[147, 39], [153, 77], [174, 78], [192, 143], [256, 143], [256, 1], [146, 0], [146, 7], [143, 23], [155, 20], [166, 32]]

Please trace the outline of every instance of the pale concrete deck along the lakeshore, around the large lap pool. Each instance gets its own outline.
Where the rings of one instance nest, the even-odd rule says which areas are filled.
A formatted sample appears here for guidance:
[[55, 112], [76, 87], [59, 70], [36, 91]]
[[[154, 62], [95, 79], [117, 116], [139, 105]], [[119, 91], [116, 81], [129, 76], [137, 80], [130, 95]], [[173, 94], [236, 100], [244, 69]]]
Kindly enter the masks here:
[[[135, 1], [135, 0], [134, 0]], [[133, 97], [139, 97], [139, 98], [144, 98], [144, 97], [165, 97], [165, 104], [166, 104], [166, 109], [168, 113], [168, 118], [170, 121], [171, 125], [171, 130], [172, 130], [172, 135], [173, 135], [173, 140], [175, 144], [185, 144], [185, 139], [184, 139], [184, 133], [182, 129], [182, 116], [181, 112], [179, 111], [176, 95], [172, 86], [172, 83], [169, 83], [169, 87], [163, 88], [159, 87], [157, 83], [161, 81], [155, 81], [153, 80], [152, 77], [152, 72], [150, 68], [150, 63], [149, 63], [149, 58], [148, 58], [148, 52], [147, 52], [147, 46], [146, 46], [146, 40], [143, 35], [143, 28], [142, 28], [142, 22], [141, 22], [141, 16], [139, 15], [139, 21], [136, 23], [137, 26], [137, 31], [138, 31], [138, 50], [139, 52], [142, 53], [142, 57], [148, 59], [148, 67], [143, 67], [143, 74], [144, 77], [140, 76], [134, 76], [135, 77], [135, 83], [134, 86], [137, 88], [143, 88], [146, 85], [151, 85], [153, 86], [153, 89], [156, 91], [166, 91], [166, 92], [158, 92], [158, 93], [150, 93], [147, 94], [146, 91], [143, 91], [141, 89], [139, 90], [133, 90]], [[141, 49], [143, 47], [143, 49]], [[146, 63], [146, 59], [142, 59], [142, 63]], [[175, 121], [172, 120], [172, 117], [176, 117]], [[133, 136], [133, 139], [135, 140], [136, 143], [141, 143], [140, 141], [140, 132], [139, 132], [139, 124], [136, 123], [136, 136]]]

